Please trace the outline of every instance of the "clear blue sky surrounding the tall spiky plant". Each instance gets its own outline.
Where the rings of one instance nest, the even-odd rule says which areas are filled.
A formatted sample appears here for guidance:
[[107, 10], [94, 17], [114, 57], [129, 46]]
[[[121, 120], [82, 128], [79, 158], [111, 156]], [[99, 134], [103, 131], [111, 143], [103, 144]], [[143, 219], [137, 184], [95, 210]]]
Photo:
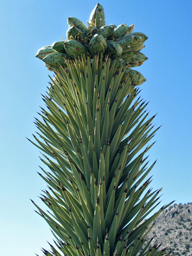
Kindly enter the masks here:
[[[39, 105], [44, 106], [48, 74], [36, 51], [66, 38], [67, 17], [84, 23], [97, 1], [0, 1], [0, 254], [42, 256], [52, 241], [48, 225], [34, 211], [45, 182], [36, 171], [40, 155], [32, 138]], [[149, 39], [138, 67], [147, 79], [141, 96], [157, 126], [150, 150], [158, 159], [154, 189], [163, 187], [162, 203], [192, 202], [192, 1], [101, 0], [106, 24], [135, 24]]]

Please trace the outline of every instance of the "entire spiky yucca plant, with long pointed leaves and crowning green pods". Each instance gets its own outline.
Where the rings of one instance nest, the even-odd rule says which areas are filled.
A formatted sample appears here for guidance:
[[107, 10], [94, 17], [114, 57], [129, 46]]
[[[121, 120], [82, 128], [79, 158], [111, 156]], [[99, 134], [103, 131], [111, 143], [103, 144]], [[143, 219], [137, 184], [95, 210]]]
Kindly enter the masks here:
[[[147, 36], [134, 25], [105, 25], [98, 3], [88, 27], [68, 18], [66, 41], [38, 50], [49, 70], [48, 108], [35, 119], [32, 142], [42, 152], [39, 175], [48, 190], [36, 211], [55, 236], [46, 256], [161, 256], [160, 244], [146, 244], [147, 227], [170, 204], [158, 206], [149, 188], [146, 153], [156, 131], [139, 87], [145, 78], [131, 69], [147, 57], [140, 53]], [[44, 174], [42, 174], [44, 173]]]

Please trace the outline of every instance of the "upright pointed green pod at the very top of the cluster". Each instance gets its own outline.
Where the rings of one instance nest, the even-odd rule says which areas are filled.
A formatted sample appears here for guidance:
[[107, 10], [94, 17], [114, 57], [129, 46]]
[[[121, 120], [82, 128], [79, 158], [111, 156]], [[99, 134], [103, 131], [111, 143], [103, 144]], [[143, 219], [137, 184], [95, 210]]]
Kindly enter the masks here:
[[95, 24], [97, 29], [105, 25], [105, 14], [101, 4], [96, 4], [96, 7], [93, 9], [89, 20]]

